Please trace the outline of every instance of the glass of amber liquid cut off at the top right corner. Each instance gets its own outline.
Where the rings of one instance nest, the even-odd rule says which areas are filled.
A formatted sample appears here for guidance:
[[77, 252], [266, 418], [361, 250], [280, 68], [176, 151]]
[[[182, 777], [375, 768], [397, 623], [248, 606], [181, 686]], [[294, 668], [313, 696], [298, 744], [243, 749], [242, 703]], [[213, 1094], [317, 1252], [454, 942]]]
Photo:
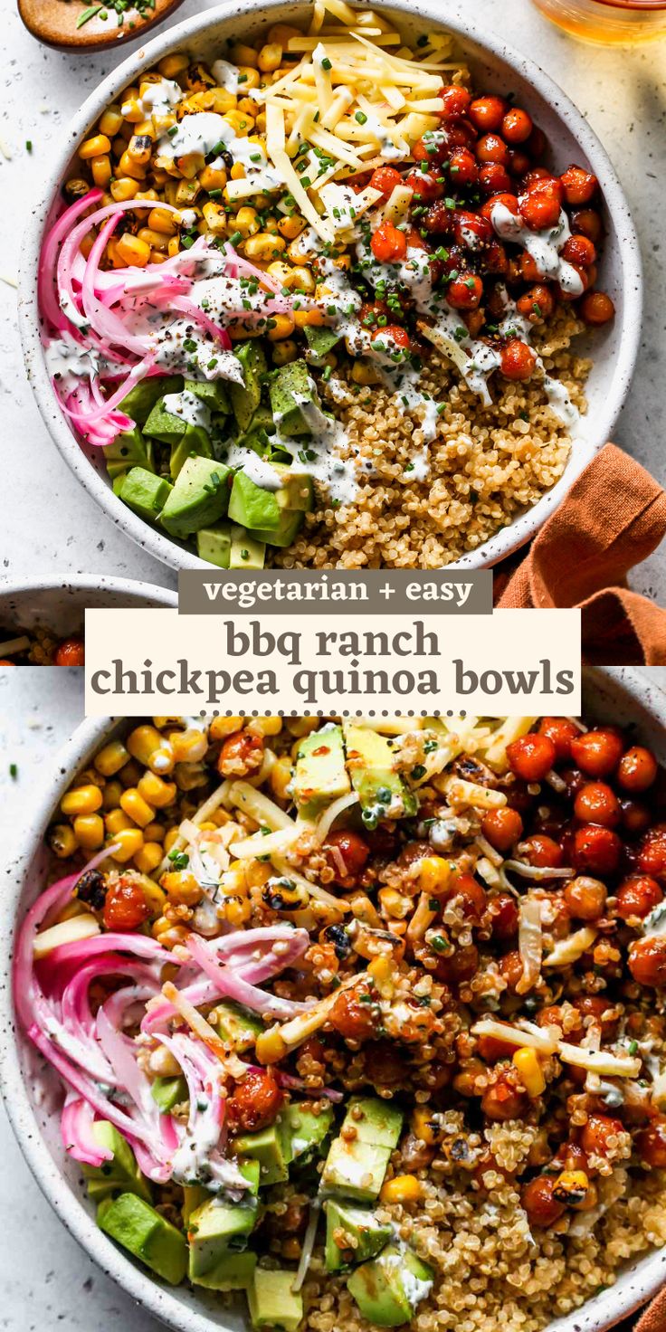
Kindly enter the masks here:
[[582, 41], [634, 45], [666, 37], [666, 0], [534, 0], [550, 19]]

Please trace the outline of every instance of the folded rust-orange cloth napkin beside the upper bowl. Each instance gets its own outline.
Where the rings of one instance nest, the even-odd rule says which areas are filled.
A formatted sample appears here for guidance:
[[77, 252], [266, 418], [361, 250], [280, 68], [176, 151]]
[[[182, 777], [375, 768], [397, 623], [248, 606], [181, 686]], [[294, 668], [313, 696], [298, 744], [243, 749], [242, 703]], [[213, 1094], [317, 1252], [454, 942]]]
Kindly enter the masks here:
[[626, 575], [665, 534], [666, 492], [645, 468], [607, 444], [543, 523], [507, 581], [501, 570], [496, 574], [496, 603], [579, 606], [585, 661], [663, 666], [666, 609], [630, 591]]

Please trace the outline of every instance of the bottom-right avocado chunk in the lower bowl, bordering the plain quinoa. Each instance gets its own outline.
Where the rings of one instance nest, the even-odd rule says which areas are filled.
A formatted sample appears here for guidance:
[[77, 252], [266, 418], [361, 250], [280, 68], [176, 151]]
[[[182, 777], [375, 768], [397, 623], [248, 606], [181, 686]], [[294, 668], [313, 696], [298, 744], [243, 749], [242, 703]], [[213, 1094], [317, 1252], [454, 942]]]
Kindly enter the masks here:
[[357, 1267], [348, 1279], [358, 1311], [380, 1328], [397, 1328], [412, 1315], [433, 1285], [433, 1273], [412, 1251], [388, 1245], [378, 1257]]

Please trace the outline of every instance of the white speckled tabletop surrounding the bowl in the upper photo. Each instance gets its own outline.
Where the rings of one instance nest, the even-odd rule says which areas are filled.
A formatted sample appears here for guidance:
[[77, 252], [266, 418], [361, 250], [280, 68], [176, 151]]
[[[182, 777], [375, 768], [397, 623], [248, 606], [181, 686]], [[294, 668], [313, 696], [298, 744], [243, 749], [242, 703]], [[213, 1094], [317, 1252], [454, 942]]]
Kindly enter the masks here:
[[[178, 19], [208, 5], [185, 0]], [[446, 17], [446, 3], [442, 4]], [[659, 265], [655, 218], [661, 208], [661, 181], [666, 169], [666, 72], [663, 43], [629, 52], [602, 51], [575, 44], [558, 33], [529, 0], [476, 0], [474, 17], [507, 41], [529, 52], [573, 97], [607, 148], [626, 189], [638, 225], [646, 265], [646, 320], [643, 354], [622, 412], [617, 441], [662, 482], [666, 477], [661, 438], [665, 348], [666, 280]], [[35, 192], [40, 165], [49, 160], [49, 143], [80, 105], [101, 75], [109, 72], [131, 47], [89, 57], [71, 57], [40, 48], [8, 16], [3, 65], [1, 136], [12, 152], [0, 155], [3, 197]], [[32, 141], [32, 153], [25, 140]], [[16, 274], [21, 244], [20, 209], [3, 209], [0, 274]], [[5, 238], [7, 233], [7, 238]], [[0, 558], [4, 569], [43, 573], [125, 573], [173, 586], [174, 575], [135, 547], [57, 457], [23, 378], [15, 329], [15, 293], [0, 284], [0, 392], [3, 397], [4, 522]], [[32, 480], [31, 480], [32, 478]], [[39, 478], [39, 485], [35, 478]], [[29, 510], [25, 492], [29, 489]], [[633, 575], [633, 586], [666, 603], [665, 549]]]

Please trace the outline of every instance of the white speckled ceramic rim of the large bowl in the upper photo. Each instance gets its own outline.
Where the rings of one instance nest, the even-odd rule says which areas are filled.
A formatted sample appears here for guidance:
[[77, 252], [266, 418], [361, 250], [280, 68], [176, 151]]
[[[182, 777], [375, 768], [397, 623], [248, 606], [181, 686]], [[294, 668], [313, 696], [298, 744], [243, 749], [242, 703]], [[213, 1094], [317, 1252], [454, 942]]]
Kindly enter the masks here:
[[[581, 438], [574, 446], [563, 477], [553, 490], [478, 550], [465, 555], [457, 566], [481, 569], [510, 554], [538, 531], [611, 434], [638, 352], [642, 305], [638, 240], [619, 181], [594, 132], [538, 65], [474, 24], [469, 3], [454, 0], [446, 5], [446, 13], [441, 0], [409, 0], [409, 3], [404, 0], [401, 4], [377, 0], [377, 8], [393, 16], [408, 35], [414, 29], [418, 32], [424, 19], [442, 24], [453, 32], [477, 75], [478, 85], [498, 92], [513, 92], [517, 101], [533, 113], [537, 124], [546, 132], [551, 145], [553, 165], [559, 170], [571, 161], [589, 166], [601, 181], [606, 205], [609, 234], [599, 269], [599, 285], [613, 297], [617, 317], [613, 325], [597, 332], [585, 344], [579, 342], [581, 350], [583, 348], [587, 350], [589, 346], [594, 361], [587, 382], [589, 412], [582, 424]], [[28, 377], [44, 422], [75, 474], [117, 526], [172, 569], [202, 569], [206, 565], [193, 551], [148, 526], [121, 503], [105, 474], [101, 450], [85, 449], [79, 444], [52, 392], [40, 344], [36, 298], [44, 222], [59, 197], [61, 181], [68, 176], [75, 147], [85, 137], [108, 103], [113, 101], [128, 84], [136, 83], [141, 71], [168, 52], [182, 47], [205, 56], [210, 48], [218, 48], [225, 39], [237, 36], [238, 31], [245, 40], [252, 40], [266, 24], [293, 20], [302, 15], [304, 9], [305, 5], [300, 0], [292, 3], [244, 0], [242, 4], [238, 0], [226, 0], [218, 8], [204, 11], [153, 37], [129, 56], [84, 101], [63, 136], [60, 153], [52, 161], [44, 194], [32, 212], [32, 224], [25, 236], [19, 301], [20, 326]]]

